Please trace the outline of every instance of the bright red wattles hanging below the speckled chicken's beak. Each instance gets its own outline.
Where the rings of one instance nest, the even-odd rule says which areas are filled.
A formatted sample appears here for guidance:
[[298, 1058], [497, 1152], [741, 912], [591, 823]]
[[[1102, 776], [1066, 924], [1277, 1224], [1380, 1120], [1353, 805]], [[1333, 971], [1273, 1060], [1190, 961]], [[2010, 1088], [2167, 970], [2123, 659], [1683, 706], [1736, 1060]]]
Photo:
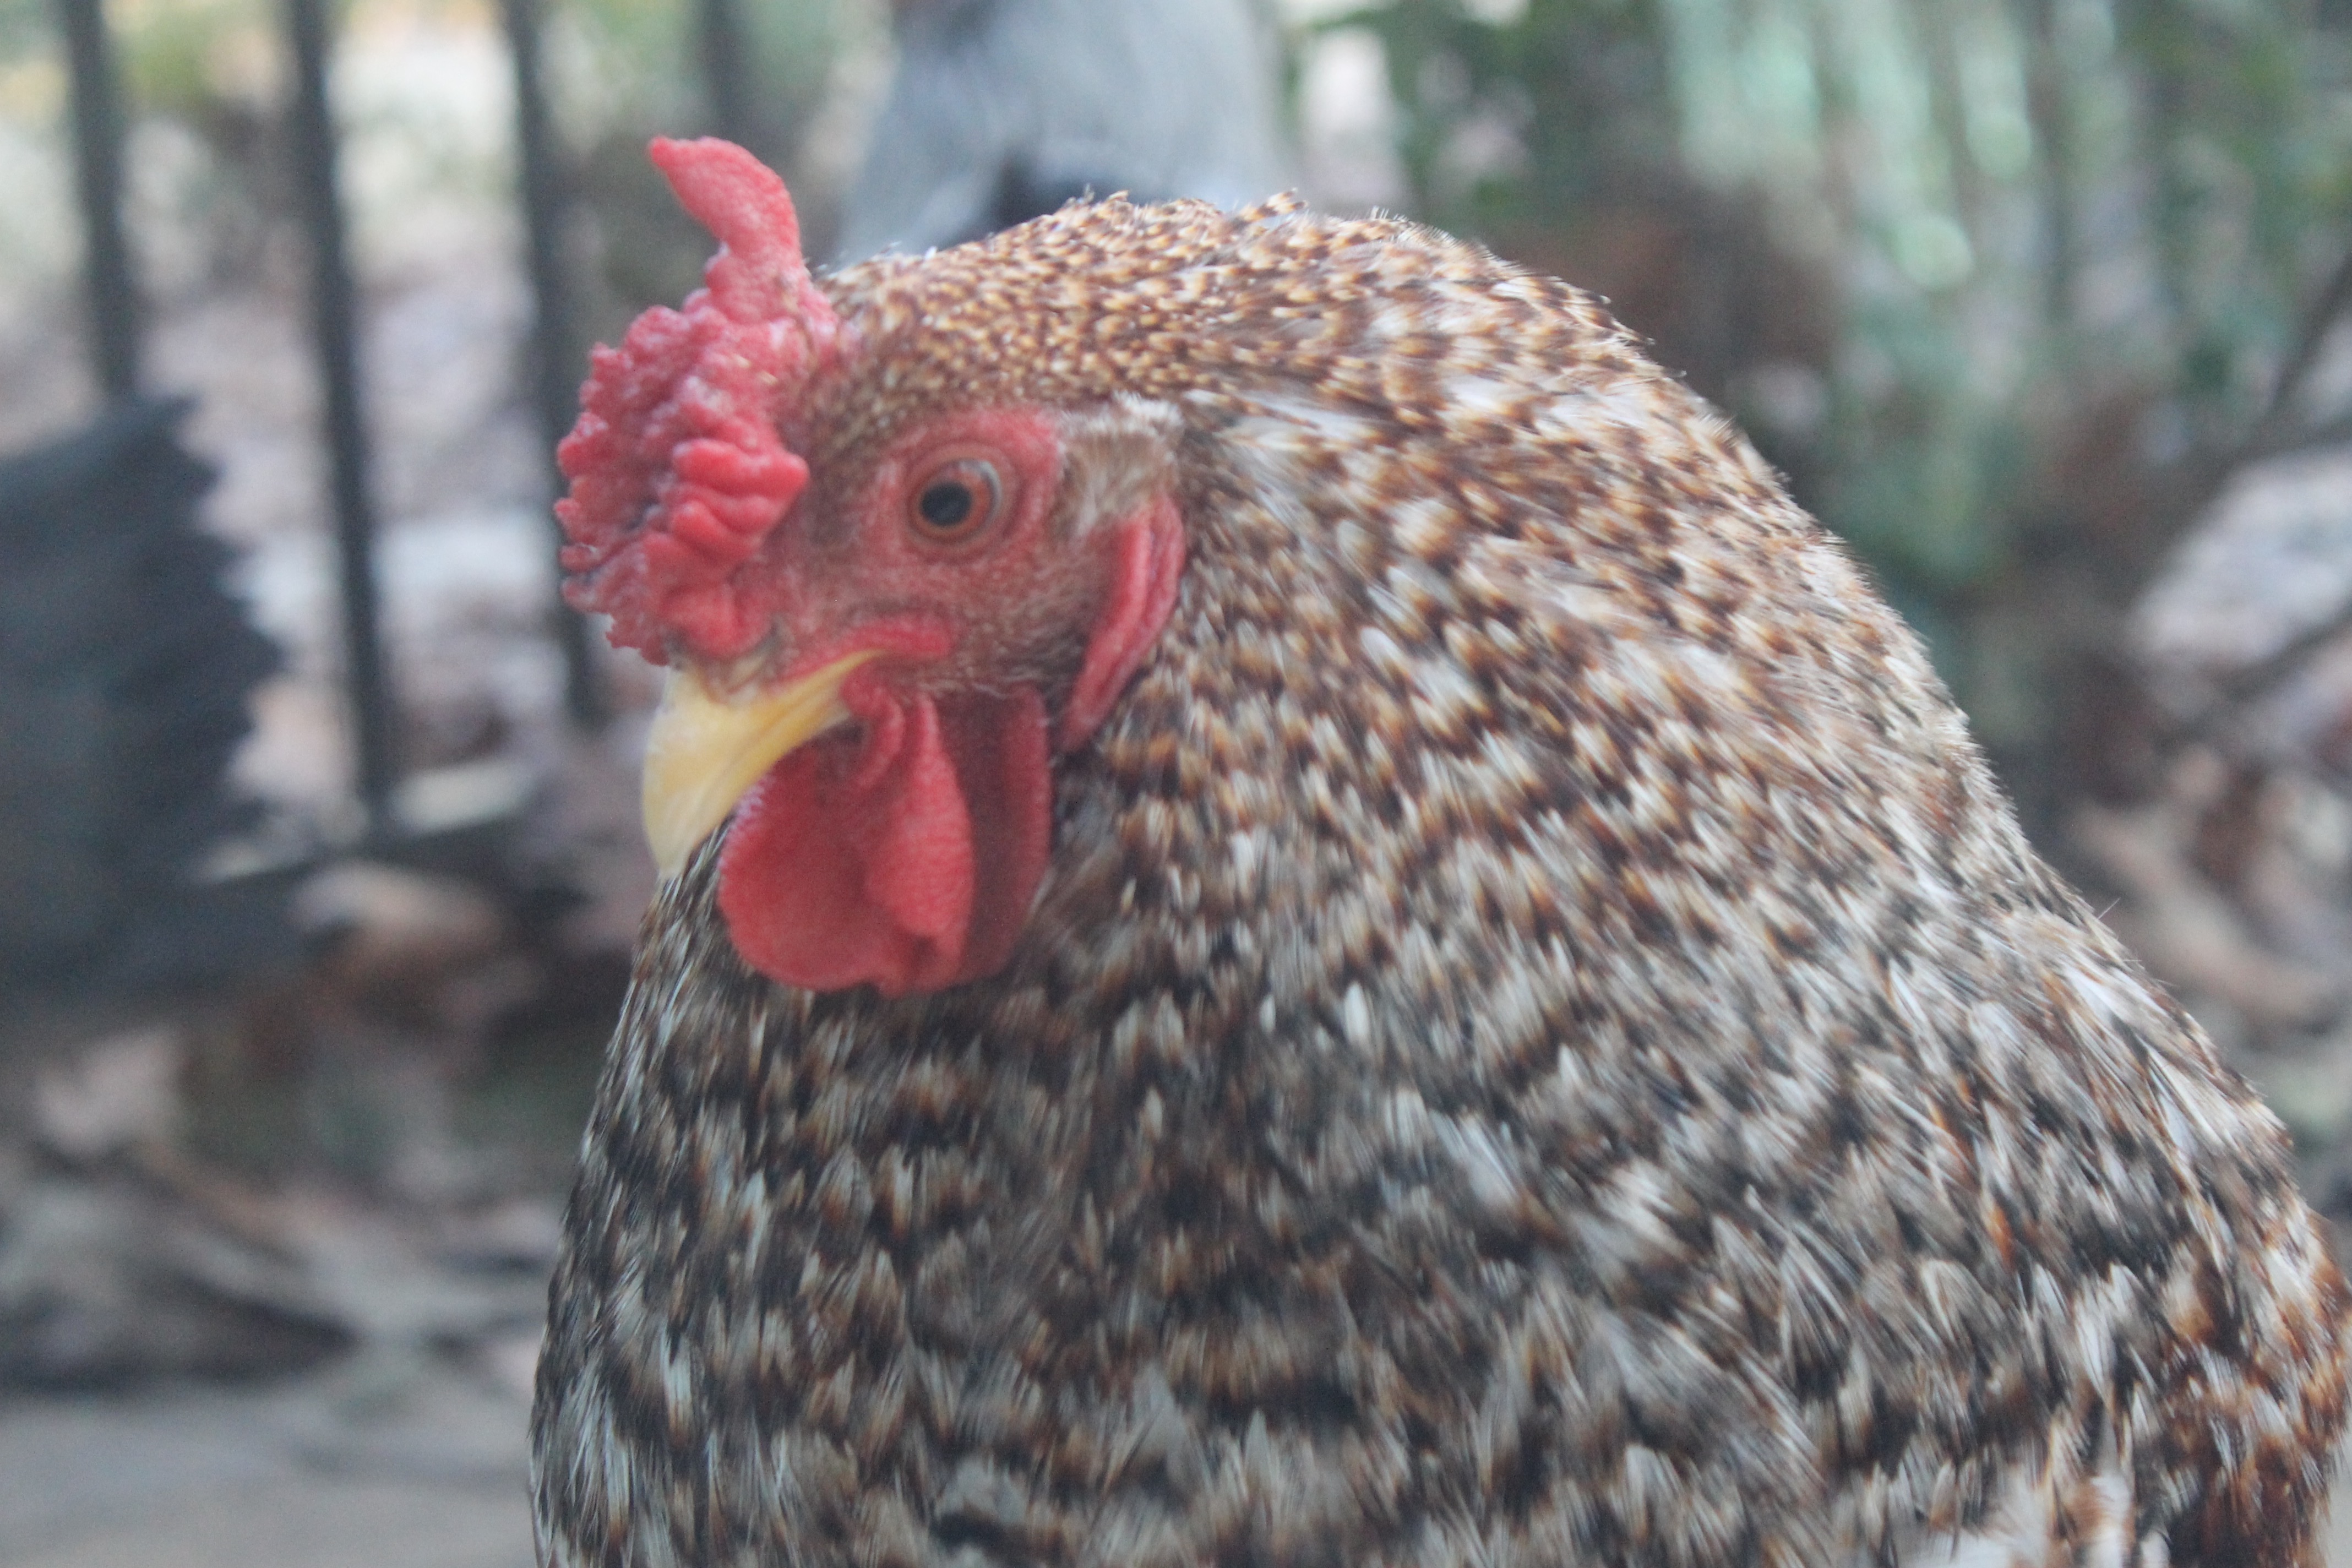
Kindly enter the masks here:
[[727, 830], [727, 931], [786, 985], [901, 997], [988, 976], [1044, 877], [1054, 783], [1037, 693], [887, 701], [896, 722], [800, 748]]

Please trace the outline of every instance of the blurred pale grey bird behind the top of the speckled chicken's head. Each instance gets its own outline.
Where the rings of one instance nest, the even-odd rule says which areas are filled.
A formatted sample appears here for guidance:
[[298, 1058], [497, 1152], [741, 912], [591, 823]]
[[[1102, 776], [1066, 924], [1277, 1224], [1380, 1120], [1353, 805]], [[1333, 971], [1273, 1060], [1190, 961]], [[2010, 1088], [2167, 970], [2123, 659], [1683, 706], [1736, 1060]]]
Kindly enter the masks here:
[[960, 244], [1127, 190], [1242, 207], [1294, 183], [1254, 0], [898, 0], [898, 71], [840, 259]]

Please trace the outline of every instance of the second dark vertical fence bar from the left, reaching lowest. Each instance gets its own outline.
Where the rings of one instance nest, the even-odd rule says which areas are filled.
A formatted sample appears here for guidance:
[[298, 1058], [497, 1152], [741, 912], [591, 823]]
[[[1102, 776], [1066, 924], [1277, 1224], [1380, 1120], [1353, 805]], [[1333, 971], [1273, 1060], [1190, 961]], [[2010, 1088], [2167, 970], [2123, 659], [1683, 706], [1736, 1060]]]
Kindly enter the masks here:
[[343, 682], [360, 804], [367, 806], [369, 832], [386, 835], [393, 827], [393, 696], [376, 628], [376, 508], [367, 489], [358, 310], [343, 254], [343, 202], [334, 183], [325, 0], [287, 0], [287, 33], [294, 40], [294, 179], [310, 233], [310, 313], [343, 567]]

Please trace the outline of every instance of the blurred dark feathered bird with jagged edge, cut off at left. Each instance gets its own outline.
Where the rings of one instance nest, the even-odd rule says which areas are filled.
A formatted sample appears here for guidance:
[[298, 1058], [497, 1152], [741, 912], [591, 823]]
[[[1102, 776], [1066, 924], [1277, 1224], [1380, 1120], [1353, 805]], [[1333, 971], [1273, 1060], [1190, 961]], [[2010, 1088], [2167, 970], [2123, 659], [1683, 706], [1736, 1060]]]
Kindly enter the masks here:
[[193, 891], [256, 818], [228, 769], [280, 654], [205, 531], [188, 407], [122, 402], [0, 461], [0, 990], [282, 957], [273, 914]]

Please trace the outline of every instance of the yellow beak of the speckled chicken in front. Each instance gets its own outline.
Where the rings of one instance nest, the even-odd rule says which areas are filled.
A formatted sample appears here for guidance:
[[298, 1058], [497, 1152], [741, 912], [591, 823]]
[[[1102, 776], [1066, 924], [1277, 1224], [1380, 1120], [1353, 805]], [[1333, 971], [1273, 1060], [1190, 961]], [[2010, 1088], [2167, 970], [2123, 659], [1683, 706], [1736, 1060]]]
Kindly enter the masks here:
[[713, 696], [677, 670], [644, 738], [644, 837], [675, 877], [743, 792], [793, 750], [849, 722], [842, 684], [880, 649], [847, 654], [779, 691]]

